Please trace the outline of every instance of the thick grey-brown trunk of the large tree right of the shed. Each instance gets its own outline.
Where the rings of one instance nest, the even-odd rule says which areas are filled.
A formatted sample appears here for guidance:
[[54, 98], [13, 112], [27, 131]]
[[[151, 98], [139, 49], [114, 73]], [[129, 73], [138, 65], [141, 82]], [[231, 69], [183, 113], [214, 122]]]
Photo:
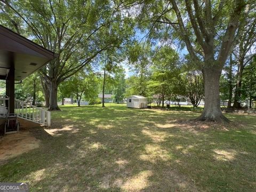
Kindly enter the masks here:
[[220, 75], [221, 69], [216, 66], [204, 67], [204, 111], [196, 120], [228, 122], [229, 120], [222, 114], [220, 108]]

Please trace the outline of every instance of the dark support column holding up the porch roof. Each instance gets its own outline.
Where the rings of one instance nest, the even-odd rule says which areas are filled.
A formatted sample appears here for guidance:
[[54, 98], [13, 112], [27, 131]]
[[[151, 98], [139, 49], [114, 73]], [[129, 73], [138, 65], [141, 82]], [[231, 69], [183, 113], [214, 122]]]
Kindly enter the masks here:
[[10, 114], [14, 114], [14, 62], [13, 60], [11, 60], [12, 62], [11, 67], [10, 67], [10, 71], [8, 74], [8, 93], [9, 93], [9, 113]]

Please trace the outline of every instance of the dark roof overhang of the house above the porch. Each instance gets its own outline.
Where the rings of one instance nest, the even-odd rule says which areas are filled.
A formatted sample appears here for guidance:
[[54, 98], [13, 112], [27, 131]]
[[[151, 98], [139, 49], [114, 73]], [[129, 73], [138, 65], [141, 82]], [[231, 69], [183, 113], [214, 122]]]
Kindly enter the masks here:
[[12, 63], [15, 69], [14, 79], [21, 81], [57, 56], [58, 54], [0, 25], [0, 79], [6, 79]]

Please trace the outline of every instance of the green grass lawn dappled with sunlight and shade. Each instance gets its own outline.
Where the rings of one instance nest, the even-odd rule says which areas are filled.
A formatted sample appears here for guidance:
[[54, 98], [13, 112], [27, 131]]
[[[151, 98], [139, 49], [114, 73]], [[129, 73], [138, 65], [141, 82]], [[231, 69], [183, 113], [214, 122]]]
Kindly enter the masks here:
[[256, 191], [256, 116], [228, 125], [187, 121], [192, 111], [111, 103], [61, 107], [39, 148], [0, 165], [0, 181], [30, 191]]

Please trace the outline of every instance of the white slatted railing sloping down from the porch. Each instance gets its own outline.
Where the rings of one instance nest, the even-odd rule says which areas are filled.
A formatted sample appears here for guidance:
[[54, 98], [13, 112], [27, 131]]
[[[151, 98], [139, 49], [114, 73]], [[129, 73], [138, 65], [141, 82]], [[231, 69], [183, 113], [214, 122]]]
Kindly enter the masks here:
[[51, 112], [43, 108], [36, 107], [15, 99], [14, 101], [15, 114], [23, 119], [31, 122], [39, 123], [46, 126], [51, 126]]

